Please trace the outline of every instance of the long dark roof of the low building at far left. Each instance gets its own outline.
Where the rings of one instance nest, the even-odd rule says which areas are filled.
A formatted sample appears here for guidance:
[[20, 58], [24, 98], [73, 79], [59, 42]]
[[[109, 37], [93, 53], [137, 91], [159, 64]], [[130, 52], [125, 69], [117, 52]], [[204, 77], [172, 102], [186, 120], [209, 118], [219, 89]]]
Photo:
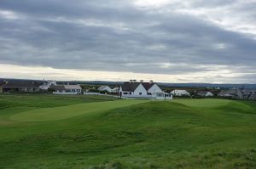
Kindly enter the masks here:
[[14, 82], [6, 82], [3, 87], [10, 87], [10, 88], [36, 88], [42, 85], [43, 82], [32, 82], [32, 81], [14, 81]]

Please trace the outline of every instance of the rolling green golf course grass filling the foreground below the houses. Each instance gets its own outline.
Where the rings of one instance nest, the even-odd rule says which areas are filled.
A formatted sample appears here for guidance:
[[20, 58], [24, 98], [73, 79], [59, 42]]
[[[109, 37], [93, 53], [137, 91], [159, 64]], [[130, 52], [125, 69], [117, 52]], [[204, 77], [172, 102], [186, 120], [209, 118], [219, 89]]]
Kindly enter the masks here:
[[255, 102], [101, 99], [0, 95], [0, 168], [256, 168]]

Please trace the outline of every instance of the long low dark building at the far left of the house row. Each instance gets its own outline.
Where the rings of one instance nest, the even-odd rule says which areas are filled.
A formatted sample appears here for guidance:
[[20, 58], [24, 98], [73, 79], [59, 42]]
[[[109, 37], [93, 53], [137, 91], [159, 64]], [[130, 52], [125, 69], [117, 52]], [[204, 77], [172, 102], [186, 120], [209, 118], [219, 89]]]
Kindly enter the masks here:
[[11, 81], [2, 86], [3, 92], [38, 92], [42, 82], [33, 81]]

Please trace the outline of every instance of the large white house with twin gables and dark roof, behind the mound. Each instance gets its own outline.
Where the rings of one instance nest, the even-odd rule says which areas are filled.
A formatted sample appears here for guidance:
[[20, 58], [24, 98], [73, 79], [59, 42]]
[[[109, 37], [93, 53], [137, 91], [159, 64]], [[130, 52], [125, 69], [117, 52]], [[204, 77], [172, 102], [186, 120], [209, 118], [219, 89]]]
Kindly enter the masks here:
[[124, 82], [119, 87], [119, 96], [126, 99], [172, 99], [171, 94], [162, 91], [154, 82]]

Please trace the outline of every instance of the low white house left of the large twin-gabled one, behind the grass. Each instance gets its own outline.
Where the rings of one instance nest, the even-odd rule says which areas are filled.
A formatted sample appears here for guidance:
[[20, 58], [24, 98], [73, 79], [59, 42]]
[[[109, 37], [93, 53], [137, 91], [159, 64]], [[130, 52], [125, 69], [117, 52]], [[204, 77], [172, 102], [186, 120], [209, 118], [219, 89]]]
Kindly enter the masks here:
[[54, 94], [74, 95], [82, 93], [82, 87], [80, 85], [56, 85], [52, 88], [55, 90], [53, 92]]

